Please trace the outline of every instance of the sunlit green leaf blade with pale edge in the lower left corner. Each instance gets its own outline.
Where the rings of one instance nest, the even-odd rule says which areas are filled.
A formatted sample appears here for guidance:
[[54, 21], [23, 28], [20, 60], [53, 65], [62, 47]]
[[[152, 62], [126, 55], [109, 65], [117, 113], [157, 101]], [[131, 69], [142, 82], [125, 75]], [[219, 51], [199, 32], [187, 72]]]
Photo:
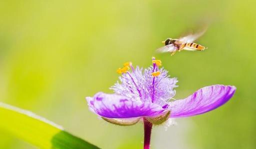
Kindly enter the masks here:
[[0, 129], [40, 149], [99, 149], [32, 112], [0, 103]]

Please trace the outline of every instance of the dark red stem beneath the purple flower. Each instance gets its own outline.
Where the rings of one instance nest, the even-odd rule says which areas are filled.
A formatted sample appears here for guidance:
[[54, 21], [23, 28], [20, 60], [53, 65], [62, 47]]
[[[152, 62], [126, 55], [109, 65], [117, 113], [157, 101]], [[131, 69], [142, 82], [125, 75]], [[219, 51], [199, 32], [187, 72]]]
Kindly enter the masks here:
[[150, 149], [152, 123], [148, 122], [145, 118], [143, 118], [143, 121], [144, 121], [144, 149]]

